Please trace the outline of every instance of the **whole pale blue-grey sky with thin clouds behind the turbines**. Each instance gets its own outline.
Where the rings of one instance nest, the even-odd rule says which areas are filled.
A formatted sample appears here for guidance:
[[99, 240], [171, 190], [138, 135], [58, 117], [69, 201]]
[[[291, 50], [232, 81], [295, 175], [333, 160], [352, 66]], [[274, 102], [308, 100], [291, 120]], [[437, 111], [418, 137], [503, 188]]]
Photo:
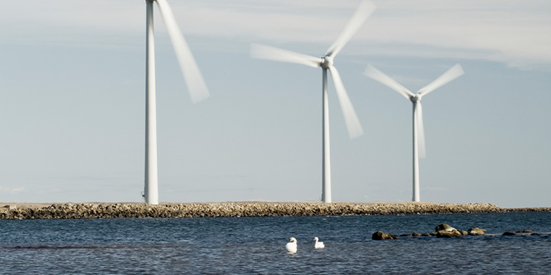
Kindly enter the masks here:
[[[412, 107], [423, 98], [420, 197], [550, 207], [551, 3], [380, 1], [335, 57], [364, 135], [329, 80], [333, 201], [410, 201]], [[319, 201], [321, 69], [252, 59], [251, 43], [322, 56], [359, 0], [169, 0], [211, 96], [191, 102], [158, 9], [159, 200]], [[141, 201], [145, 1], [10, 1], [0, 10], [0, 201]]]

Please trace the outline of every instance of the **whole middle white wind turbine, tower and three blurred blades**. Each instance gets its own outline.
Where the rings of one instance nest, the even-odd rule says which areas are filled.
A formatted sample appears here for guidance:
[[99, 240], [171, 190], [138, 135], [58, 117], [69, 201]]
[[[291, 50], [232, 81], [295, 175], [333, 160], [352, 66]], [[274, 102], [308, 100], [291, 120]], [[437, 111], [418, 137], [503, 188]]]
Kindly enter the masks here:
[[267, 59], [271, 61], [282, 61], [289, 63], [298, 63], [310, 67], [322, 68], [322, 104], [323, 104], [323, 137], [322, 137], [322, 201], [331, 202], [331, 160], [329, 155], [329, 103], [327, 102], [327, 70], [331, 72], [340, 107], [344, 114], [346, 127], [351, 139], [363, 135], [362, 125], [357, 119], [354, 107], [350, 102], [348, 94], [342, 85], [339, 72], [333, 66], [333, 58], [342, 50], [342, 47], [352, 38], [358, 29], [364, 24], [367, 18], [373, 13], [376, 6], [371, 1], [362, 1], [356, 12], [353, 14], [349, 23], [344, 27], [337, 40], [329, 47], [329, 50], [322, 57], [308, 56], [298, 54], [287, 50], [281, 50], [275, 47], [252, 44], [251, 57]]

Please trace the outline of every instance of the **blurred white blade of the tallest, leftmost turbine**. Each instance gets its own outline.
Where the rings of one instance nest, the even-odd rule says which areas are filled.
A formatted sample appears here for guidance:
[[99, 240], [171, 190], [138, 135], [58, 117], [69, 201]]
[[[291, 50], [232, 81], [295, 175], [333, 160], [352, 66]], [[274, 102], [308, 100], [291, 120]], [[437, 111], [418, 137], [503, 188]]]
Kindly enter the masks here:
[[180, 69], [182, 69], [182, 74], [189, 90], [189, 95], [191, 96], [191, 101], [196, 103], [205, 98], [209, 97], [209, 89], [203, 80], [199, 67], [197, 66], [194, 56], [189, 50], [189, 46], [185, 42], [184, 36], [174, 19], [174, 14], [166, 0], [156, 0], [160, 14], [163, 16], [163, 21], [165, 21], [165, 26], [167, 28], [170, 40], [172, 41], [172, 46], [174, 47], [174, 52], [176, 52], [176, 57], [178, 58], [178, 63], [180, 63]]

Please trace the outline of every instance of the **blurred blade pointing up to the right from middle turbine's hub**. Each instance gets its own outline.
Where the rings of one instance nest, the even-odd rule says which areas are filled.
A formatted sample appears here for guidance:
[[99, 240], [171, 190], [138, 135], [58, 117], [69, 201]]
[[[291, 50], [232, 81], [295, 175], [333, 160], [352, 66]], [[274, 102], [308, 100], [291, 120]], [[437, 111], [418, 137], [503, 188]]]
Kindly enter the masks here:
[[364, 22], [376, 8], [377, 6], [373, 2], [368, 0], [362, 1], [360, 6], [357, 7], [356, 12], [352, 15], [349, 23], [346, 24], [339, 37], [337, 37], [337, 40], [333, 42], [333, 45], [329, 47], [325, 55], [333, 57], [336, 56], [340, 50], [342, 50], [342, 47], [350, 41], [357, 30], [364, 25]]

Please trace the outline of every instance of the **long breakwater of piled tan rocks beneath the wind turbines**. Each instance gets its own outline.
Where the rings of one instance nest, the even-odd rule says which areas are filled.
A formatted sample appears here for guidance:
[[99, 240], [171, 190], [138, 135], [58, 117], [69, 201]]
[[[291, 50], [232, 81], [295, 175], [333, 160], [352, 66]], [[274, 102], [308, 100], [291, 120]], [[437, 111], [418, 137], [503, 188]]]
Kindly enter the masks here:
[[[0, 206], [2, 204], [0, 203]], [[368, 214], [504, 212], [490, 203], [321, 203], [223, 202], [163, 203], [4, 203], [0, 219], [106, 219], [146, 217], [269, 217]]]

